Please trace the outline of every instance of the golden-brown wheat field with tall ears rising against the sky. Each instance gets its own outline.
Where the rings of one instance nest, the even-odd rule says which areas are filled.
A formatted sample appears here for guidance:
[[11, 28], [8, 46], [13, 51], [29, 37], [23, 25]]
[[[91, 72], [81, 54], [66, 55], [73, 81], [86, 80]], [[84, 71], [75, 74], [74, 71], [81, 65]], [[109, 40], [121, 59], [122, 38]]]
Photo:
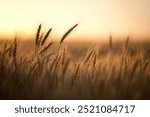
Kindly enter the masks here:
[[[150, 99], [150, 42], [0, 41], [0, 99]], [[68, 38], [68, 39], [66, 39]]]

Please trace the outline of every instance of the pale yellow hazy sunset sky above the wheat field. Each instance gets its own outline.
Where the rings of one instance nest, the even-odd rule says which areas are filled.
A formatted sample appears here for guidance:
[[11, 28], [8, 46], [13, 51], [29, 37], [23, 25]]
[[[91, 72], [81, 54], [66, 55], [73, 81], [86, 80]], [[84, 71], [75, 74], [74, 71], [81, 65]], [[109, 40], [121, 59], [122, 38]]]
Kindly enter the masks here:
[[0, 0], [0, 35], [32, 35], [42, 23], [62, 36], [79, 23], [72, 37], [150, 37], [150, 0]]

